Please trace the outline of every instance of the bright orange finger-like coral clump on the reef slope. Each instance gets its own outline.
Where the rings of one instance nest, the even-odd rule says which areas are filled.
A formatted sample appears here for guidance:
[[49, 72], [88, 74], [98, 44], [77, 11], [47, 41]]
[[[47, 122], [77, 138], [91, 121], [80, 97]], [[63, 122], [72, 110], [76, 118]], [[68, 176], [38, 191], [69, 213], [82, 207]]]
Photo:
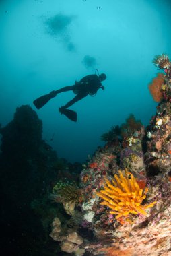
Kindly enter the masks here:
[[[133, 174], [125, 171], [125, 176], [119, 171], [120, 176], [114, 175], [112, 182], [106, 180], [104, 190], [96, 193], [102, 197], [101, 205], [108, 206], [111, 211], [110, 214], [116, 214], [116, 219], [122, 216], [129, 216], [129, 214], [143, 214], [146, 215], [145, 210], [153, 207], [156, 201], [149, 205], [142, 205], [143, 199], [146, 198], [147, 187], [140, 189]], [[112, 185], [113, 184], [113, 185]]]

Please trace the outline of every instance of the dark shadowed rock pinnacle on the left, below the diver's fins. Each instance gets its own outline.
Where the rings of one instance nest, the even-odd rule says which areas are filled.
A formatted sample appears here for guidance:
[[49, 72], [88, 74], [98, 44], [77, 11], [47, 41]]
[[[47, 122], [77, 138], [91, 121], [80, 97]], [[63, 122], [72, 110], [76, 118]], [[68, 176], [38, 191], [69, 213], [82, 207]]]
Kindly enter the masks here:
[[48, 250], [48, 255], [54, 255], [54, 242], [46, 236], [40, 217], [31, 207], [31, 202], [43, 198], [57, 179], [52, 164], [57, 155], [42, 140], [42, 121], [30, 106], [21, 106], [0, 133], [1, 253], [47, 255]]

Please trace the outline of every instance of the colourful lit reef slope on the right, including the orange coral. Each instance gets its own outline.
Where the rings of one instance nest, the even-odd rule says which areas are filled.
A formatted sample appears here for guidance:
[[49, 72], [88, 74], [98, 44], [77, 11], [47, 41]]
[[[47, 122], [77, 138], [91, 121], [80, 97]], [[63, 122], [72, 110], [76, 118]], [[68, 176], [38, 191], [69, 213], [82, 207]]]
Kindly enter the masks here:
[[150, 125], [129, 115], [83, 164], [80, 221], [68, 223], [83, 237], [85, 255], [171, 255], [170, 61], [158, 55], [153, 62], [164, 73], [153, 80], [160, 104]]

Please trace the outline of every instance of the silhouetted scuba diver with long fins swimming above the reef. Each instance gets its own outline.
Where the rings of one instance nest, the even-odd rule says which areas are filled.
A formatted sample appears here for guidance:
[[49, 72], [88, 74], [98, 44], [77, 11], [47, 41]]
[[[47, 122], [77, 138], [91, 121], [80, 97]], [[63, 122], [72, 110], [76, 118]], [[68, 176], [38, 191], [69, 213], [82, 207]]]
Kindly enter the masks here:
[[[97, 71], [97, 70], [96, 70]], [[50, 92], [49, 94], [46, 94], [44, 96], [41, 96], [34, 100], [34, 106], [36, 106], [37, 109], [42, 108], [51, 98], [54, 98], [57, 96], [57, 94], [61, 92], [67, 92], [67, 91], [73, 91], [76, 96], [73, 98], [73, 100], [69, 101], [64, 106], [61, 106], [59, 108], [59, 112], [72, 121], [77, 121], [77, 113], [73, 110], [69, 110], [69, 106], [72, 106], [75, 104], [75, 102], [81, 100], [82, 98], [85, 98], [86, 96], [95, 96], [96, 92], [98, 92], [98, 89], [102, 88], [104, 90], [104, 86], [102, 86], [101, 82], [106, 79], [106, 75], [102, 73], [101, 75], [87, 75], [86, 77], [83, 77], [79, 82], [75, 81], [75, 84], [73, 86], [65, 86], [59, 90], [54, 90]]]

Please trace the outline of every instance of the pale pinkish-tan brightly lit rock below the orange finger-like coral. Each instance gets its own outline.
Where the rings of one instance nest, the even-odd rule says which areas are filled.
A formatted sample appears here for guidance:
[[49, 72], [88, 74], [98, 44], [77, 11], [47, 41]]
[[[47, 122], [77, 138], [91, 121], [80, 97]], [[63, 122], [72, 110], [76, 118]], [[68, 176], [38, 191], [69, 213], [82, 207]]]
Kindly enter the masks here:
[[[171, 206], [151, 222], [122, 225], [114, 232], [114, 243], [98, 249], [94, 255], [171, 255]], [[116, 254], [117, 253], [117, 254]]]

